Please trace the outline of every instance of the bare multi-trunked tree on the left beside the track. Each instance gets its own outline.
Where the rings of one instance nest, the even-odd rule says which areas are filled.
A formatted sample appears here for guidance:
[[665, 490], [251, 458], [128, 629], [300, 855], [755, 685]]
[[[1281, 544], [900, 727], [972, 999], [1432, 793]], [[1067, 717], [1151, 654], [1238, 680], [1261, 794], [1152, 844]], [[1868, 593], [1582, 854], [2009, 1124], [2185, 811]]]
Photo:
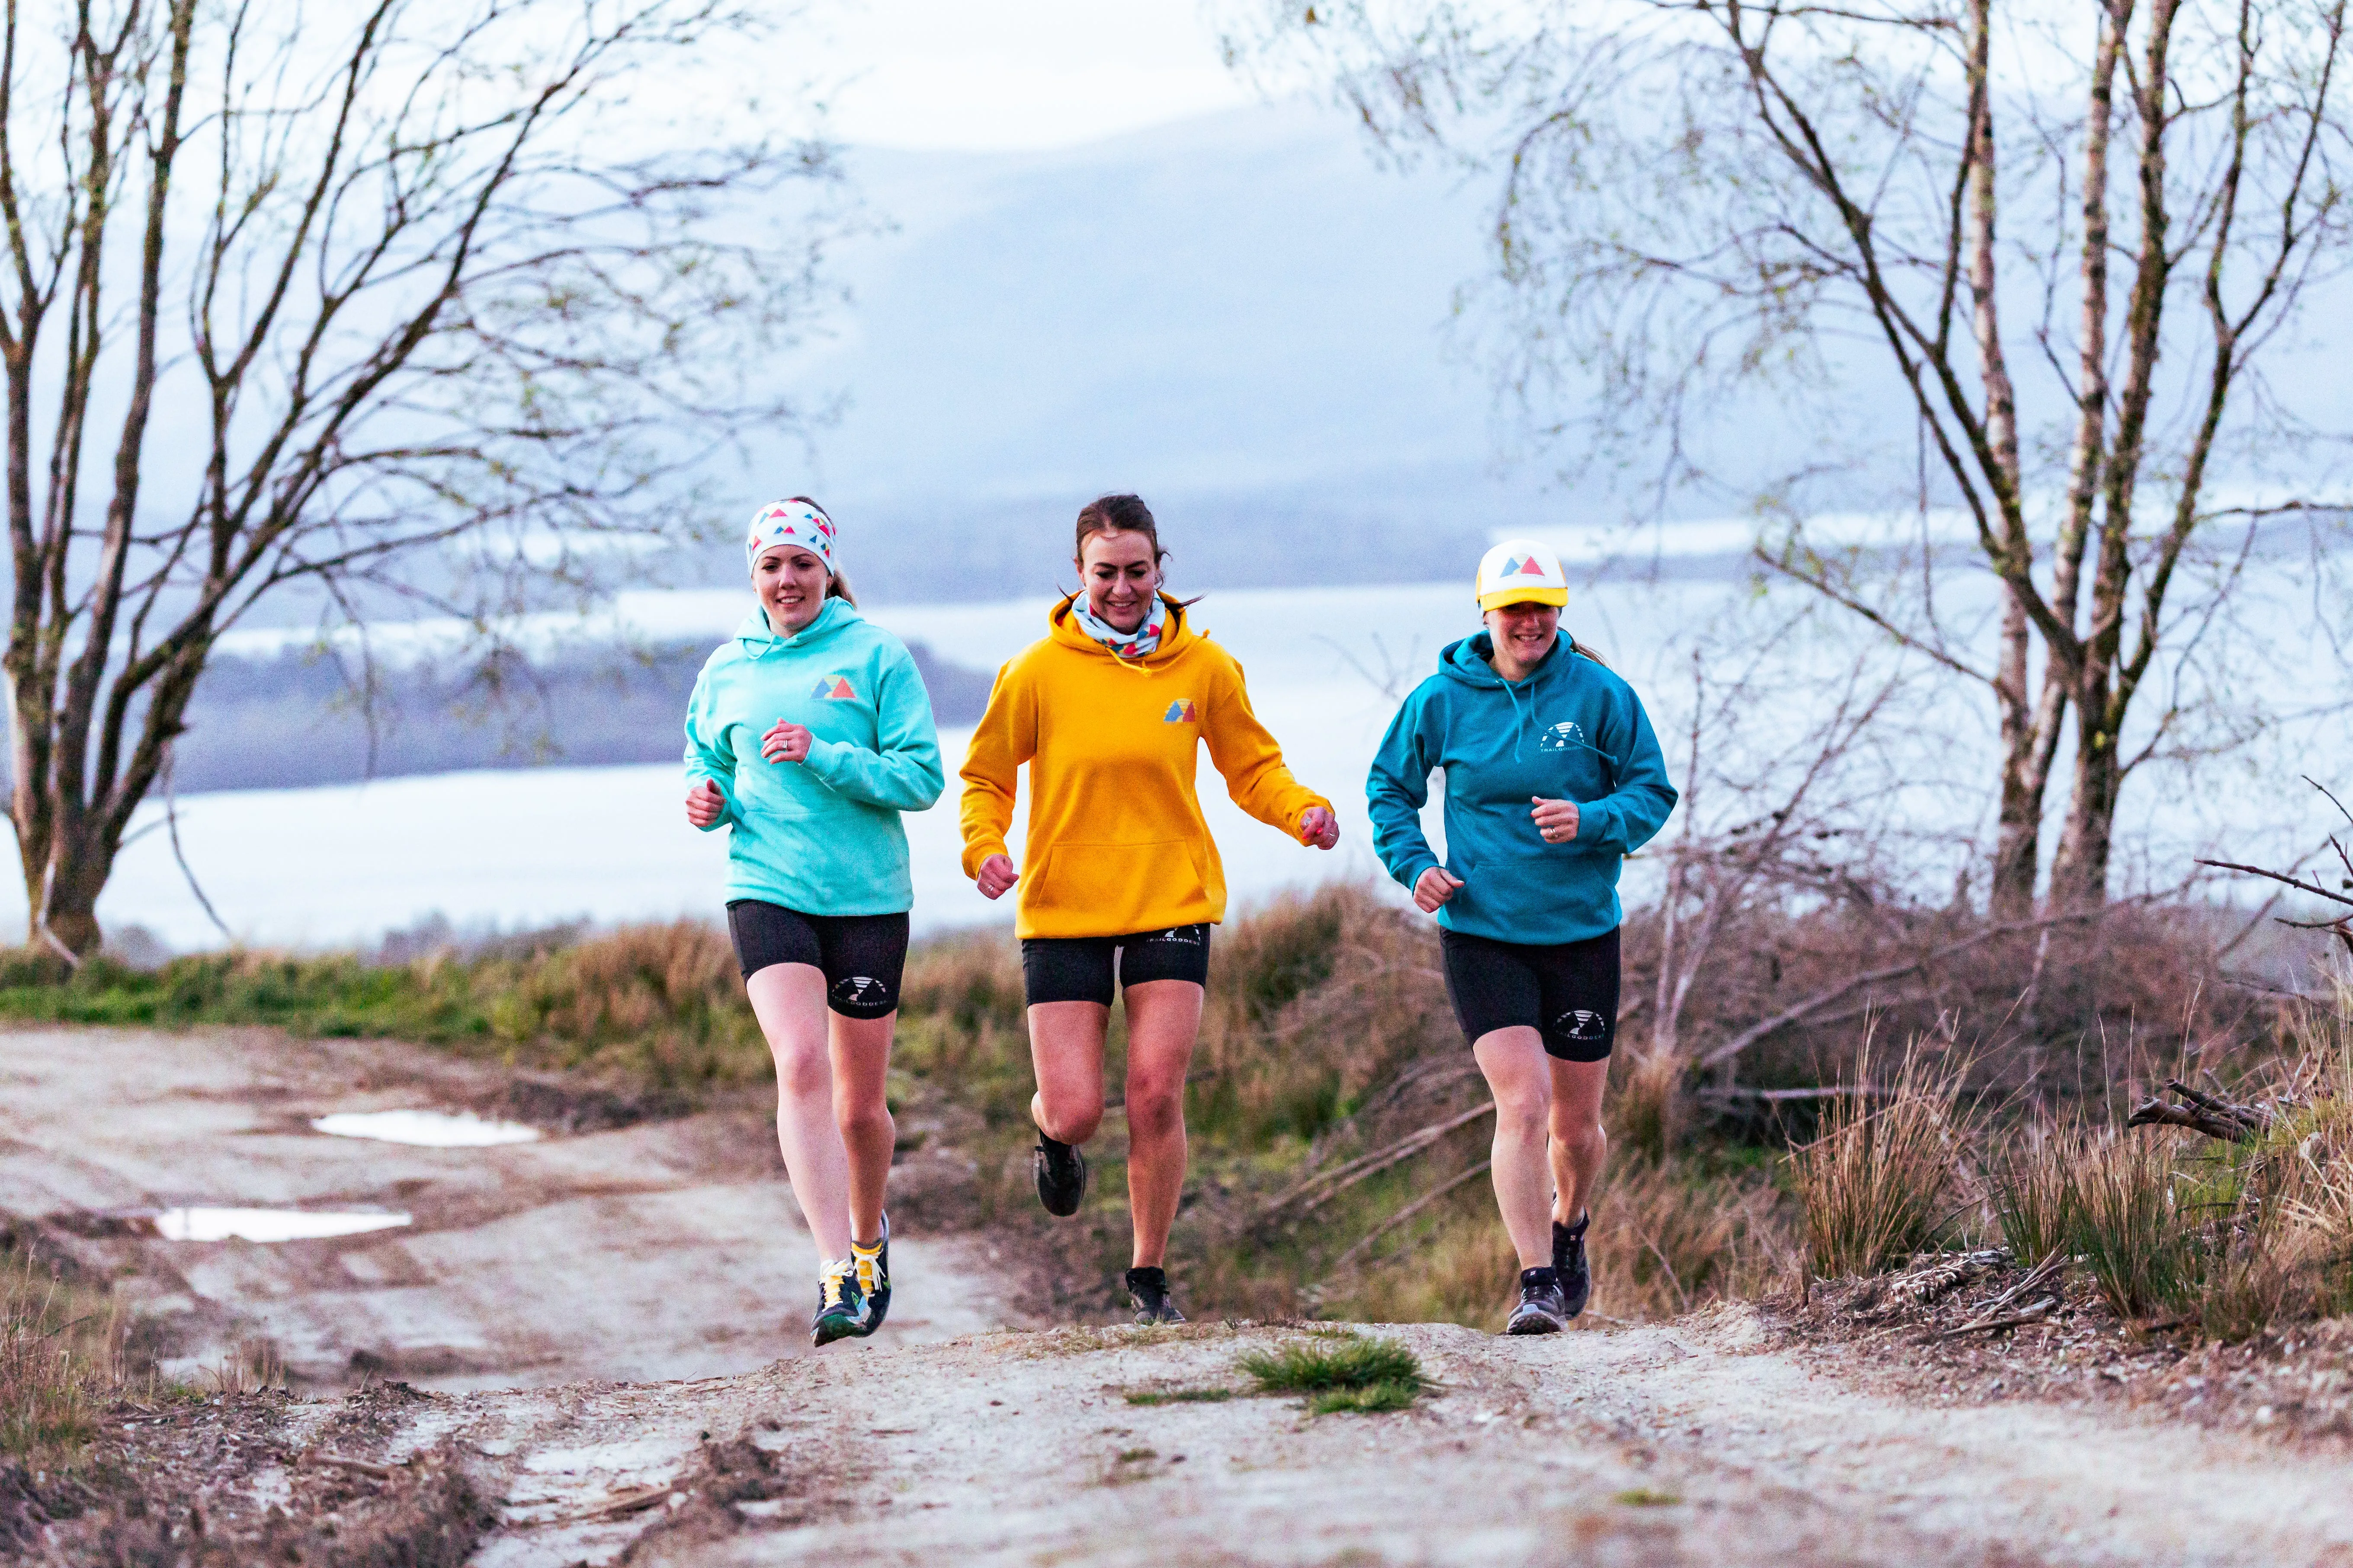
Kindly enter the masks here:
[[256, 604], [593, 592], [793, 428], [760, 350], [833, 167], [689, 103], [664, 150], [668, 73], [751, 35], [725, 0], [38, 9], [0, 24], [9, 816], [73, 957]]

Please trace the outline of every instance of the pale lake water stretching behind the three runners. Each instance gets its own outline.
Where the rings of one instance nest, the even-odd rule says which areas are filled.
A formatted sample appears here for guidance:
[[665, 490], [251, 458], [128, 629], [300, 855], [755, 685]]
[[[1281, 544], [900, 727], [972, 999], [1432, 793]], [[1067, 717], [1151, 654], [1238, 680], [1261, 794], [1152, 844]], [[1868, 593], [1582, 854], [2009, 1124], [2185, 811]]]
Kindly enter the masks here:
[[[2285, 578], [2282, 578], [2285, 581]], [[2292, 581], [2285, 581], [2294, 588]], [[649, 635], [722, 637], [741, 618], [736, 592], [633, 595], [631, 623]], [[1967, 637], [1991, 604], [1984, 578], [1962, 581], [1948, 611]], [[911, 642], [972, 668], [995, 668], [1033, 642], [1047, 599], [960, 607], [878, 607], [871, 616]], [[1365, 769], [1395, 703], [1384, 686], [1409, 689], [1435, 668], [1440, 646], [1475, 630], [1461, 583], [1400, 588], [1299, 588], [1217, 592], [1198, 623], [1242, 661], [1259, 717], [1282, 741], [1292, 769], [1329, 795], [1344, 823], [1339, 851], [1318, 853], [1245, 818], [1224, 795], [1214, 769], [1200, 769], [1209, 827], [1240, 905], [1329, 877], [1379, 877], [1365, 830]], [[1692, 710], [1692, 646], [1744, 646], [1779, 616], [1741, 581], [1602, 583], [1581, 590], [1567, 625], [1602, 649], [1649, 705], [1685, 776], [1685, 724]], [[1814, 632], [1817, 639], [1826, 632]], [[1769, 752], [1793, 741], [1835, 705], [1859, 644], [1852, 623], [1828, 632], [1842, 642], [1798, 649], [1741, 698], [1746, 745]], [[1727, 679], [1718, 675], [1718, 679]], [[1904, 804], [1927, 837], [1984, 827], [1991, 773], [1991, 710], [1979, 689], [1946, 682], [1904, 698], [1908, 752], [1885, 762], [1887, 790], [1918, 790]], [[915, 860], [918, 929], [1009, 922], [958, 867], [955, 778], [969, 731], [941, 736], [951, 790], [927, 813], [908, 818]], [[1777, 741], [1779, 738], [1779, 741]], [[1901, 748], [1899, 748], [1901, 750]], [[2344, 769], [2344, 757], [2334, 769]], [[2311, 743], [2271, 736], [2231, 764], [2219, 792], [2165, 792], [2134, 780], [2127, 823], [2141, 835], [2151, 877], [2186, 853], [2228, 842], [2231, 858], [2264, 844], [2289, 844], [2325, 825], [2294, 783], [2311, 771]], [[231, 931], [256, 945], [365, 943], [384, 931], [440, 914], [461, 929], [525, 929], [562, 919], [600, 924], [720, 914], [722, 835], [699, 835], [682, 816], [675, 764], [626, 769], [515, 769], [393, 778], [313, 790], [240, 790], [184, 797], [179, 839], [188, 867]], [[2315, 802], [2318, 804], [2318, 802]], [[1435, 839], [1435, 802], [1428, 813]], [[141, 924], [167, 945], [212, 947], [221, 936], [188, 891], [160, 806], [148, 806], [99, 903], [111, 929]], [[2179, 863], [2179, 865], [2177, 865]], [[1642, 877], [1638, 863], [1631, 872]], [[21, 922], [24, 898], [0, 919]]]

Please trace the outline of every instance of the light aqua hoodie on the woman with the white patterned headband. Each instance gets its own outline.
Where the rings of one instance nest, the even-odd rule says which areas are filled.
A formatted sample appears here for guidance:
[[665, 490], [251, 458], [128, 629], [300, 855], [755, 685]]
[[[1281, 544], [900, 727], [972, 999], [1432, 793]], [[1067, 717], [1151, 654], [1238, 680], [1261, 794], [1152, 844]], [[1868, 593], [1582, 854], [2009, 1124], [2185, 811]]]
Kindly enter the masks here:
[[[805, 762], [769, 762], [760, 736], [805, 724]], [[727, 898], [802, 914], [899, 914], [915, 903], [901, 811], [946, 788], [932, 698], [906, 644], [847, 599], [793, 637], [755, 609], [694, 677], [687, 788], [727, 799]]]

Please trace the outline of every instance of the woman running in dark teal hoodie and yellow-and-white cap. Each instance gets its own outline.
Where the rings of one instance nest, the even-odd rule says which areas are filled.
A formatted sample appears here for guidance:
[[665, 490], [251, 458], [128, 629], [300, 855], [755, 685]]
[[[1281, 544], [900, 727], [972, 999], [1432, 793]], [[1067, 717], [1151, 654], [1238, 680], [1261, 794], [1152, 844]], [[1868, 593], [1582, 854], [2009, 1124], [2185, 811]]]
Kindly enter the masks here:
[[[1365, 783], [1374, 851], [1438, 917], [1447, 999], [1494, 1093], [1494, 1199], [1520, 1253], [1506, 1333], [1567, 1328], [1593, 1293], [1619, 863], [1675, 809], [1642, 701], [1560, 635], [1567, 602], [1548, 548], [1489, 550], [1487, 630], [1414, 686]], [[1445, 860], [1421, 835], [1433, 769], [1447, 773]]]

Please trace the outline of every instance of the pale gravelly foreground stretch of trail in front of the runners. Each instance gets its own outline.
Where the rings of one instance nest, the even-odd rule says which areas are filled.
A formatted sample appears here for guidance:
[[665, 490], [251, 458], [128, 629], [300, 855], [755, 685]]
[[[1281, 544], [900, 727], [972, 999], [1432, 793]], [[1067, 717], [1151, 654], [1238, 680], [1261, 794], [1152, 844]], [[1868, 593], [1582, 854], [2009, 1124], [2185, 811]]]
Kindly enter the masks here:
[[[2113, 1410], [1875, 1399], [1755, 1321], [1501, 1340], [1412, 1326], [1395, 1415], [1238, 1387], [1297, 1328], [998, 1333], [664, 1387], [466, 1394], [482, 1568], [631, 1563], [2353, 1563], [2353, 1465]], [[708, 1443], [706, 1443], [708, 1434]], [[774, 1455], [732, 1507], [713, 1446]], [[725, 1469], [725, 1465], [722, 1465]], [[741, 1469], [741, 1465], [736, 1467]], [[675, 1509], [579, 1521], [675, 1483]]]

